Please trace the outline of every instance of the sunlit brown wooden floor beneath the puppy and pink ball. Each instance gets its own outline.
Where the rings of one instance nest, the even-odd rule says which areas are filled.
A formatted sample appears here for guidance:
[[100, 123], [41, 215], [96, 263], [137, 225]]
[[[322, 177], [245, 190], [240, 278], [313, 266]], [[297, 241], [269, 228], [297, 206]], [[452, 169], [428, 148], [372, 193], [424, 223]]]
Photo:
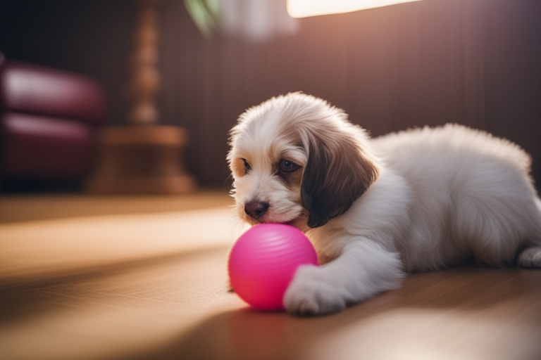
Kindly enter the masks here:
[[0, 197], [0, 359], [541, 359], [541, 271], [413, 274], [340, 314], [227, 292], [231, 200]]

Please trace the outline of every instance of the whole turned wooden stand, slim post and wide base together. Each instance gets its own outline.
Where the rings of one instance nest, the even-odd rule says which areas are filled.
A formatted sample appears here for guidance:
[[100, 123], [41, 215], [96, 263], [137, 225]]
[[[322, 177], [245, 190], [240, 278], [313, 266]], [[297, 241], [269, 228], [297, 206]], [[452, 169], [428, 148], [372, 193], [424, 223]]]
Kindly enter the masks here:
[[186, 193], [197, 188], [183, 163], [187, 131], [156, 124], [159, 113], [154, 96], [161, 81], [156, 69], [158, 1], [137, 1], [129, 124], [99, 132], [97, 168], [86, 184], [89, 193]]

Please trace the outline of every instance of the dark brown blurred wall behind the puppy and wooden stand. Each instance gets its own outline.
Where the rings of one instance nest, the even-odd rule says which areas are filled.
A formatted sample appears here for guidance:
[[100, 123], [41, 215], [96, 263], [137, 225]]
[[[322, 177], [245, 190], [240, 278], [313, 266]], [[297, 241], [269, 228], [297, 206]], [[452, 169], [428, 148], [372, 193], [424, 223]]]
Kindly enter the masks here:
[[[157, 4], [159, 123], [189, 131], [185, 162], [200, 186], [228, 186], [237, 116], [289, 91], [327, 99], [373, 136], [446, 122], [486, 129], [533, 155], [541, 183], [540, 1], [424, 0], [308, 18], [286, 3], [219, 1], [207, 32], [184, 1]], [[0, 0], [0, 51], [97, 79], [104, 126], [121, 125], [136, 23], [132, 0]]]

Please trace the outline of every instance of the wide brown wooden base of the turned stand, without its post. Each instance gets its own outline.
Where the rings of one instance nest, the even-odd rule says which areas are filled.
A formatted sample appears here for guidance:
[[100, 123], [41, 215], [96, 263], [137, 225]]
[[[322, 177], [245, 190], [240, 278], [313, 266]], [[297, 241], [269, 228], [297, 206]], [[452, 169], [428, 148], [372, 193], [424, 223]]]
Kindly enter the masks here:
[[185, 169], [187, 132], [179, 127], [131, 125], [99, 133], [97, 169], [89, 193], [187, 193], [197, 182]]

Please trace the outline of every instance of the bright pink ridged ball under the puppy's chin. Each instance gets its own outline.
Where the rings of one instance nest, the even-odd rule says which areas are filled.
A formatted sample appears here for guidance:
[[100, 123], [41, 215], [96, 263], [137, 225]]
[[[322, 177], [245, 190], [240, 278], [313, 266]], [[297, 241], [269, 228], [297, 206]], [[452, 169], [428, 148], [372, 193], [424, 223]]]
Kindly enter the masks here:
[[281, 310], [287, 285], [299, 265], [318, 264], [304, 233], [284, 224], [257, 224], [240, 236], [229, 255], [235, 293], [255, 309]]

